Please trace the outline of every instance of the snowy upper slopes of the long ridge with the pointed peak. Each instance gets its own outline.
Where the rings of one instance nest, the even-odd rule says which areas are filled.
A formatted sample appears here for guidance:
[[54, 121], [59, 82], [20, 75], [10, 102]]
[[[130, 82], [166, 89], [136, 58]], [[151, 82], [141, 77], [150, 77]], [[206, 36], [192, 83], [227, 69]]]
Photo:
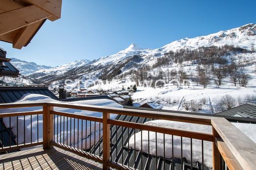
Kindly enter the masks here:
[[88, 64], [87, 62], [75, 61], [60, 67], [37, 71], [30, 74], [29, 77], [46, 82], [59, 81], [66, 78], [107, 79], [128, 73], [130, 70], [152, 66], [158, 63], [158, 58], [163, 57], [170, 51], [175, 52], [181, 49], [192, 50], [213, 46], [223, 47], [224, 45], [251, 50], [256, 49], [255, 42], [256, 24], [246, 24], [206, 36], [177, 40], [159, 49], [142, 49], [135, 44], [131, 44], [127, 49], [113, 55], [100, 57]]

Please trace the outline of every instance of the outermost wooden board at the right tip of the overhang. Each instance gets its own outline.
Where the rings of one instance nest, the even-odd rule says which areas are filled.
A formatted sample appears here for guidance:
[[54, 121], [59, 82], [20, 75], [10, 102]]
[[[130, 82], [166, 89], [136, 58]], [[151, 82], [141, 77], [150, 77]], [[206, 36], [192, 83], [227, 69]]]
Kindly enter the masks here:
[[48, 18], [55, 21], [61, 18], [62, 0], [24, 0], [28, 3], [38, 6], [39, 8], [47, 11], [53, 16]]

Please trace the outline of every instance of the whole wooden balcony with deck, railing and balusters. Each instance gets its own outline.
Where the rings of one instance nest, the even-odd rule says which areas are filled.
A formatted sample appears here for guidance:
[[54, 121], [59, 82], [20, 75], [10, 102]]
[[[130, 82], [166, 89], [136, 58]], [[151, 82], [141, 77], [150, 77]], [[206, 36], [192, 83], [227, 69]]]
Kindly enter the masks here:
[[[35, 107], [36, 111], [22, 111]], [[2, 169], [253, 170], [256, 167], [256, 143], [220, 116], [59, 101], [0, 104], [1, 111], [10, 108], [16, 108], [17, 112], [0, 114]], [[93, 111], [101, 116], [61, 112], [57, 108]], [[116, 114], [115, 119], [111, 114]], [[212, 130], [207, 133], [144, 123], [152, 120], [203, 125]]]

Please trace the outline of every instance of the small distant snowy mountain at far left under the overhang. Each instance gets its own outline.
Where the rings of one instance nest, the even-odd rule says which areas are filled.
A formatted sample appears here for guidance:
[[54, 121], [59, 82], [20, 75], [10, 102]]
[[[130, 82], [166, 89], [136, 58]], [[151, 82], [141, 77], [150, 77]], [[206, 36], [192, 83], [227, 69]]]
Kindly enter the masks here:
[[11, 63], [20, 71], [22, 75], [29, 75], [38, 70], [51, 68], [49, 66], [37, 65], [34, 62], [27, 62], [27, 61], [19, 60], [17, 58], [11, 58]]

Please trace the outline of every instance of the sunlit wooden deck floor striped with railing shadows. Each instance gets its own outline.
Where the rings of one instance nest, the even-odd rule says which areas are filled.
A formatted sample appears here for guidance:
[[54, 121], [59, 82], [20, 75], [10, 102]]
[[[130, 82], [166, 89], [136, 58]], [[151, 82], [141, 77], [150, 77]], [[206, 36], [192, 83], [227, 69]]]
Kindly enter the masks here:
[[102, 165], [60, 148], [42, 147], [0, 155], [1, 170], [101, 170]]

